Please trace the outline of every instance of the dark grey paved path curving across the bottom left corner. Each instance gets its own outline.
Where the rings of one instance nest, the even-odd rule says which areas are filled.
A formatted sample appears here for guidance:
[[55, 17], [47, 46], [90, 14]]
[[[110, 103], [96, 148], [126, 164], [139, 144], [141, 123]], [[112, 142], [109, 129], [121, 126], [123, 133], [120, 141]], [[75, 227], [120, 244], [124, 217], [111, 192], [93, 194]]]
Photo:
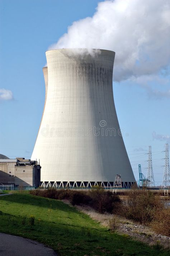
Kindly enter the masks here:
[[0, 255], [2, 256], [57, 256], [50, 248], [23, 237], [0, 233]]

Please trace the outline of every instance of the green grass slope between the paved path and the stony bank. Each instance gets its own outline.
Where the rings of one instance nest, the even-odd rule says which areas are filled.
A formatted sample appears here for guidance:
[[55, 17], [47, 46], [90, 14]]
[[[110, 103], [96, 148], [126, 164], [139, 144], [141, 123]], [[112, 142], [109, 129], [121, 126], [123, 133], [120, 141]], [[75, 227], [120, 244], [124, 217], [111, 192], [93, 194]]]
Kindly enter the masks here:
[[[30, 215], [35, 216], [34, 225], [29, 225]], [[169, 255], [161, 248], [110, 233], [88, 215], [62, 201], [28, 193], [0, 197], [0, 232], [36, 240], [53, 248], [58, 255]]]

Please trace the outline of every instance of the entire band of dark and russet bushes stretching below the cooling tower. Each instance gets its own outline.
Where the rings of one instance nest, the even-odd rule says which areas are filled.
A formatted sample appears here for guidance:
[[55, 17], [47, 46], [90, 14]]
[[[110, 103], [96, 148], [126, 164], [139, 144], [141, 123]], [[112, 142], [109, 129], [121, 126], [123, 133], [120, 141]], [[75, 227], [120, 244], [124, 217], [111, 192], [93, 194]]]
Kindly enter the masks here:
[[89, 205], [99, 213], [121, 215], [138, 223], [149, 225], [157, 233], [170, 236], [170, 209], [165, 207], [160, 196], [148, 190], [141, 191], [133, 188], [122, 200], [112, 192], [99, 187], [89, 191], [36, 189], [30, 193], [59, 200], [66, 199], [72, 205]]

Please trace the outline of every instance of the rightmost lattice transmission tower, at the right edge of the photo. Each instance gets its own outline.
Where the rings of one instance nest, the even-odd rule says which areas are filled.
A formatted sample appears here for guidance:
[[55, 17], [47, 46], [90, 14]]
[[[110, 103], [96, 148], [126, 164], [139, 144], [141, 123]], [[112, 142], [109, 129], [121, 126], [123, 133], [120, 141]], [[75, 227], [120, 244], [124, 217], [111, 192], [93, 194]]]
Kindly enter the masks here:
[[162, 188], [170, 188], [170, 169], [169, 169], [169, 147], [166, 143], [165, 150], [165, 166], [164, 166], [164, 175], [162, 179]]

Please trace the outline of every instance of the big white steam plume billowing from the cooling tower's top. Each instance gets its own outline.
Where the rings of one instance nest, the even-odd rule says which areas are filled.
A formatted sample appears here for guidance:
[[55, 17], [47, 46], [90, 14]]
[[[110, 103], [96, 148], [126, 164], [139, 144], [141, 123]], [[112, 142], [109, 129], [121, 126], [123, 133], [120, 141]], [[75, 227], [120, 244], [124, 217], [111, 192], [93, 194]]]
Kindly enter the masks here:
[[114, 81], [156, 74], [170, 64], [170, 1], [98, 3], [93, 17], [72, 23], [49, 49], [100, 48], [116, 52]]

